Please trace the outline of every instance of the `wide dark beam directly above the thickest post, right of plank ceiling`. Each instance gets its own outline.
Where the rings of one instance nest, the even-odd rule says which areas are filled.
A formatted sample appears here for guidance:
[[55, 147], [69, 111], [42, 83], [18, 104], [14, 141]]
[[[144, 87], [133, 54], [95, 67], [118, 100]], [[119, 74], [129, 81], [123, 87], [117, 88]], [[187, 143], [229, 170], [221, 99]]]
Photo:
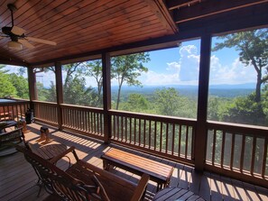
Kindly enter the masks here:
[[226, 34], [268, 26], [268, 3], [179, 23], [180, 34]]

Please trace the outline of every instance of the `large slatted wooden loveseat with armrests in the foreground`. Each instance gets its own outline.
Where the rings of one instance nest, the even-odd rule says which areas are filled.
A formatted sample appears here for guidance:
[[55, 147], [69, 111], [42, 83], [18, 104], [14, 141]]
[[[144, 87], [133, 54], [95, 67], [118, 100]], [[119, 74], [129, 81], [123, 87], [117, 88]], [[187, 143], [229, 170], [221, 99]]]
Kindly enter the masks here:
[[[47, 192], [60, 196], [62, 200], [141, 200], [149, 181], [143, 175], [138, 184], [120, 178], [104, 169], [99, 169], [79, 160], [74, 147], [52, 160], [44, 160], [31, 150], [17, 146], [25, 159], [42, 180]], [[55, 164], [67, 153], [73, 152], [77, 162], [63, 171]]]

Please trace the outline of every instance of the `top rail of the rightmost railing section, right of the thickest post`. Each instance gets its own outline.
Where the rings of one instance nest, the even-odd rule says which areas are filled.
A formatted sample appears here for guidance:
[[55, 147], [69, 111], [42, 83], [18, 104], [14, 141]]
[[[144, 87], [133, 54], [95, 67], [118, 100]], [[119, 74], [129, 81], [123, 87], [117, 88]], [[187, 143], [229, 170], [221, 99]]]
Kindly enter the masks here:
[[268, 127], [265, 126], [208, 121], [208, 129], [217, 129], [225, 132], [236, 132], [239, 134], [252, 134], [268, 137]]

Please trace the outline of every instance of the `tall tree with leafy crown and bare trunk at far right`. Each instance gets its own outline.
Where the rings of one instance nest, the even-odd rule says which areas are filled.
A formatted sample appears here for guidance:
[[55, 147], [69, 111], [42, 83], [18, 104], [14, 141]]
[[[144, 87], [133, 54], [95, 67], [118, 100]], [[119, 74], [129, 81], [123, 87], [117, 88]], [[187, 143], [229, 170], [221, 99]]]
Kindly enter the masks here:
[[[239, 59], [246, 66], [252, 65], [257, 73], [255, 87], [255, 102], [261, 101], [261, 86], [268, 80], [268, 29], [248, 32], [236, 32], [218, 39], [214, 51], [223, 48], [236, 48], [239, 51]], [[263, 75], [263, 69], [265, 75]]]

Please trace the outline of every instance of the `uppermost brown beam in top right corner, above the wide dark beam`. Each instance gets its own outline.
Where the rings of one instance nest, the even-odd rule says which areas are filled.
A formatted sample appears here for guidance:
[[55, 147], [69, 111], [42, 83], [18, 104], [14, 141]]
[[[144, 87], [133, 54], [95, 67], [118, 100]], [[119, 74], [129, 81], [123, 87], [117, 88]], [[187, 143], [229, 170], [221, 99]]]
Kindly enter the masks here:
[[199, 5], [189, 6], [174, 13], [175, 23], [184, 23], [211, 15], [222, 14], [236, 9], [260, 5], [268, 0], [217, 0], [206, 1]]

